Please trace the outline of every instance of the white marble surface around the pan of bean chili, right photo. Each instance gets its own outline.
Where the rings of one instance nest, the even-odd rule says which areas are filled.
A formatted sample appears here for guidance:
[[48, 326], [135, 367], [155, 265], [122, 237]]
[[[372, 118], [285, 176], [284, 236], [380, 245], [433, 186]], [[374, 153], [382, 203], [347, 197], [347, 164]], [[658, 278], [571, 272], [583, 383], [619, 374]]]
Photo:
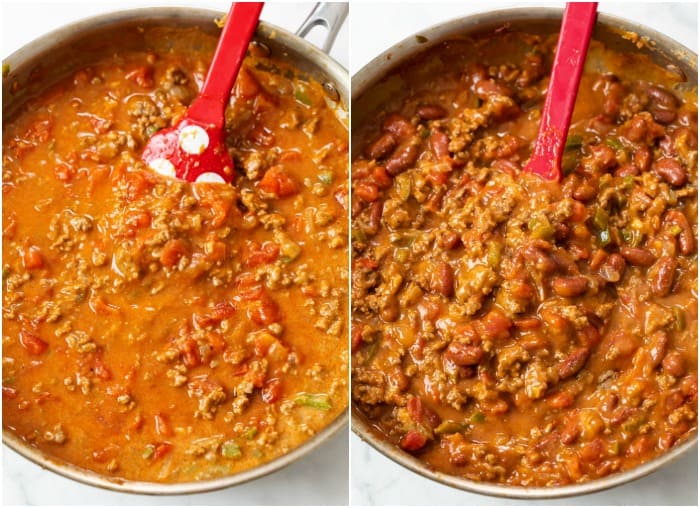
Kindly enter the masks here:
[[[563, 2], [353, 3], [350, 25], [350, 74], [372, 58], [421, 29], [458, 16], [528, 5], [563, 6]], [[601, 12], [624, 17], [671, 35], [697, 52], [697, 3], [608, 3]], [[371, 34], [371, 36], [368, 36]], [[363, 443], [351, 438], [353, 505], [518, 505], [510, 501], [462, 492], [424, 479]], [[538, 504], [572, 505], [697, 505], [698, 461], [688, 453], [678, 462], [641, 481], [606, 492]]]

